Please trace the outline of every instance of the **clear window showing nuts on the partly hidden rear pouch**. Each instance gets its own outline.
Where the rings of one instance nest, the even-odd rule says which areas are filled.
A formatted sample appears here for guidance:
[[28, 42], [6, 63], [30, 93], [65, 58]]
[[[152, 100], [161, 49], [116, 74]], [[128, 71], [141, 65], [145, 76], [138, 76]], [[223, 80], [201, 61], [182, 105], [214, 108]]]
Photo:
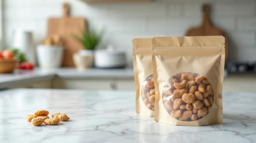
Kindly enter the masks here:
[[155, 110], [155, 87], [154, 87], [153, 74], [148, 76], [144, 80], [142, 84], [141, 97], [146, 107], [154, 111]]

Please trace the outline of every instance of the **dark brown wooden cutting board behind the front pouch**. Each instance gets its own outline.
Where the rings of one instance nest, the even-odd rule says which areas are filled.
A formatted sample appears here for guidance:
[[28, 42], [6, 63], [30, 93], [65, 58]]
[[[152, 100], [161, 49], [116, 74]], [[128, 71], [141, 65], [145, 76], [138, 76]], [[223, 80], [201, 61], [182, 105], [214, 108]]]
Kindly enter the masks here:
[[227, 60], [228, 56], [228, 38], [226, 33], [217, 28], [214, 27], [214, 25], [211, 24], [210, 22], [210, 10], [211, 7], [208, 4], [204, 4], [202, 6], [202, 11], [203, 11], [203, 23], [200, 27], [197, 28], [191, 28], [188, 30], [186, 36], [224, 36], [225, 37], [225, 60]]

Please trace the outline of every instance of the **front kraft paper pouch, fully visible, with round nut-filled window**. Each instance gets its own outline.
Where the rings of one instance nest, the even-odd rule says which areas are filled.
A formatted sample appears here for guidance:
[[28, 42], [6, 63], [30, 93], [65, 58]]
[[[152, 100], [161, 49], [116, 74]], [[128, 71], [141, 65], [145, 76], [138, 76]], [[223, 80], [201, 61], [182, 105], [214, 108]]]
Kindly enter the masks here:
[[155, 121], [204, 126], [222, 123], [223, 36], [154, 37]]

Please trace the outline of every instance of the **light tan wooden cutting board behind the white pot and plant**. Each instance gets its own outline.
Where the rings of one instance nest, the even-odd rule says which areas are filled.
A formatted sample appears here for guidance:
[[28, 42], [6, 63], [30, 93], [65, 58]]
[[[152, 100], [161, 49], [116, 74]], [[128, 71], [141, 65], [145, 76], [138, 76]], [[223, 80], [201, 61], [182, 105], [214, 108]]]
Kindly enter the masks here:
[[72, 54], [83, 49], [82, 44], [74, 39], [72, 35], [82, 35], [82, 31], [86, 28], [86, 20], [82, 17], [69, 16], [69, 4], [63, 5], [63, 17], [51, 18], [48, 20], [48, 37], [60, 35], [65, 48], [63, 57], [63, 66], [74, 66]]

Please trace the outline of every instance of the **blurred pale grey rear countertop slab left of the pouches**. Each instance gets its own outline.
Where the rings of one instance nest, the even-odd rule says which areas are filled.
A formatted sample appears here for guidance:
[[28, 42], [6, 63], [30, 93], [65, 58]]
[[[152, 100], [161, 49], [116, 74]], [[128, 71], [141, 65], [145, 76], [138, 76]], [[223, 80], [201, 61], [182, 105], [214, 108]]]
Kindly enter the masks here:
[[123, 69], [98, 69], [91, 68], [78, 70], [76, 68], [60, 69], [40, 69], [34, 70], [15, 70], [10, 74], [0, 74], [0, 89], [8, 86], [39, 82], [53, 79], [54, 77], [62, 79], [134, 79], [132, 68]]

